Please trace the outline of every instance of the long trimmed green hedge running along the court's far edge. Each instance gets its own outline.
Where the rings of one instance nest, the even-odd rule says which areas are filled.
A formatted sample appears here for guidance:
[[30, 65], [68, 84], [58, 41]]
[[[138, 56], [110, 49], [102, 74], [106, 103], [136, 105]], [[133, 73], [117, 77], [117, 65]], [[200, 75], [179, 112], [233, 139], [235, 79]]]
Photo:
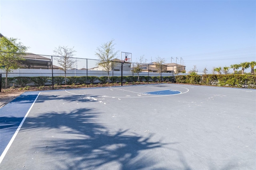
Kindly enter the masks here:
[[[120, 83], [121, 77], [110, 77], [110, 82], [114, 79], [114, 83]], [[172, 76], [162, 77], [162, 81], [171, 81]], [[189, 83], [200, 85], [215, 85], [224, 87], [248, 87], [256, 89], [256, 75], [177, 75], [175, 77], [177, 83]], [[124, 76], [123, 81], [137, 81], [138, 76]], [[159, 77], [140, 76], [141, 81], [159, 81]], [[65, 82], [64, 76], [56, 76], [53, 78], [54, 84], [63, 85]], [[96, 76], [81, 76], [67, 77], [67, 84], [85, 84], [85, 83], [107, 83], [108, 77]], [[52, 84], [52, 77], [8, 77], [7, 86], [5, 85], [5, 77], [2, 77], [2, 88], [26, 87], [26, 86], [43, 86]]]

